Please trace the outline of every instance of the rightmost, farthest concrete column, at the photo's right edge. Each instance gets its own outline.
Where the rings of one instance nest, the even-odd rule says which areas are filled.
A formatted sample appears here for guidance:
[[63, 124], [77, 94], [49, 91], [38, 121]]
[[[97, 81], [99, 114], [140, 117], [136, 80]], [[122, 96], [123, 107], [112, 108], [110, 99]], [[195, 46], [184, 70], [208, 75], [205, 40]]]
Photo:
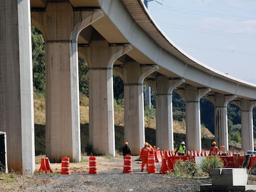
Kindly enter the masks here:
[[256, 101], [241, 99], [241, 101], [234, 101], [234, 104], [239, 106], [241, 109], [242, 151], [254, 151], [252, 109], [256, 106]]

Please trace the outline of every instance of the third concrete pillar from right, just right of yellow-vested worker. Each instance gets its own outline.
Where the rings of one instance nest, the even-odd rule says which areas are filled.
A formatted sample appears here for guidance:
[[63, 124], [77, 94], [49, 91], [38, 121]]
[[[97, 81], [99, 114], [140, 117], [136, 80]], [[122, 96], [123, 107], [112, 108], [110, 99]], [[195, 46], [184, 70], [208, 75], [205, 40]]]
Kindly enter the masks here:
[[186, 86], [182, 93], [186, 99], [186, 146], [188, 150], [202, 151], [201, 120], [200, 120], [200, 98], [210, 91], [208, 88], [196, 88]]

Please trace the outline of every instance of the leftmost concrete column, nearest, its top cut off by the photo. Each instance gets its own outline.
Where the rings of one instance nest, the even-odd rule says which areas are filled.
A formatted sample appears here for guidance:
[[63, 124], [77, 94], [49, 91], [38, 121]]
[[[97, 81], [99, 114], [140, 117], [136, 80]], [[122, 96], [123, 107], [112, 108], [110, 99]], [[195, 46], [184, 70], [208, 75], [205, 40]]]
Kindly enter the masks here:
[[6, 132], [8, 168], [35, 170], [30, 1], [1, 1], [0, 131]]

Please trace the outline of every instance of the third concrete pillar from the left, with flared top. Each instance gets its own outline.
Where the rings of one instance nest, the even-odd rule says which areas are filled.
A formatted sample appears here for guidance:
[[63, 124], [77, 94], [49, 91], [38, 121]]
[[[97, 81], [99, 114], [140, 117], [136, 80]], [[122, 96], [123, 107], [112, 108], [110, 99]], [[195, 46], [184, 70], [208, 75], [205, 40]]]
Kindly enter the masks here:
[[115, 156], [113, 64], [131, 49], [129, 45], [109, 46], [95, 34], [83, 51], [89, 65], [89, 143], [95, 154]]

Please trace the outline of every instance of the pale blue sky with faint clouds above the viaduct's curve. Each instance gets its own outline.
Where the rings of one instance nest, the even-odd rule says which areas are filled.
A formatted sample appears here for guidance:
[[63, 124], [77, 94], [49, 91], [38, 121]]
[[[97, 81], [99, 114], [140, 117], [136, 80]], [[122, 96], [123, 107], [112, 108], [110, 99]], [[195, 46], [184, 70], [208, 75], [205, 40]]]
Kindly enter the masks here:
[[256, 84], [256, 0], [148, 0], [148, 12], [196, 61]]

